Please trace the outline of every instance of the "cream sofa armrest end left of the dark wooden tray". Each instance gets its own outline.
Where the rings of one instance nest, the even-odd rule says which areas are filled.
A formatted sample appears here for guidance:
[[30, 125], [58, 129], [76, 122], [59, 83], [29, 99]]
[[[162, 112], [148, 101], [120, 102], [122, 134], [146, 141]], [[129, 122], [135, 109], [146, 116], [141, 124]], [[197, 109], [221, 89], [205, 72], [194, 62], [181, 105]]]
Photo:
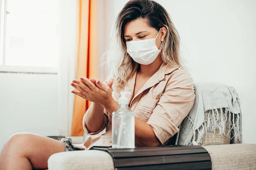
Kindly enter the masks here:
[[48, 159], [49, 170], [113, 170], [113, 159], [100, 150], [55, 153]]

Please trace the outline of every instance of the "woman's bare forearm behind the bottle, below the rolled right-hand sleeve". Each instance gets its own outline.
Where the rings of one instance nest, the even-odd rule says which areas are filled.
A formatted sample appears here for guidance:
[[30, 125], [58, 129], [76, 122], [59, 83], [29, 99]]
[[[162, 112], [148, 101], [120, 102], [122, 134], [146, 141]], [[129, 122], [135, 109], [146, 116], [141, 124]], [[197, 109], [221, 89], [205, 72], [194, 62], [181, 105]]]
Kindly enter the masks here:
[[[112, 115], [119, 108], [119, 104], [113, 99], [104, 105], [104, 108]], [[161, 143], [157, 139], [151, 125], [135, 117], [135, 141], [141, 146], [157, 146]]]

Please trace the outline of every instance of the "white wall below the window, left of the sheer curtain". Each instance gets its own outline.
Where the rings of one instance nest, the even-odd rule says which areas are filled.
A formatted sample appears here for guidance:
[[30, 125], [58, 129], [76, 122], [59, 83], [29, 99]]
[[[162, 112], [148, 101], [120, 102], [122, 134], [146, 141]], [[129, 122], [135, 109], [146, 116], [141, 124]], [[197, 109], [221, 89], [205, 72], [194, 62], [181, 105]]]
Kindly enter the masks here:
[[17, 132], [59, 135], [58, 75], [0, 73], [0, 151]]

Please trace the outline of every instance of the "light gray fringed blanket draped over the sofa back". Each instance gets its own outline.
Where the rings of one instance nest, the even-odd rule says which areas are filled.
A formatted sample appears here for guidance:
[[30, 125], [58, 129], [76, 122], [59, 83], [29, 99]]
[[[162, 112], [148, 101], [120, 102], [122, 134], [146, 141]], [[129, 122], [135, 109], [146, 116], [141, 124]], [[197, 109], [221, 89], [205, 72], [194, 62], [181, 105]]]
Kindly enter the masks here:
[[[207, 114], [204, 115], [204, 112]], [[233, 133], [233, 142], [241, 142], [241, 109], [236, 90], [220, 83], [195, 84], [195, 103], [180, 125], [176, 144], [201, 145], [207, 130], [215, 131], [218, 128], [223, 134], [228, 126]], [[197, 140], [195, 140], [196, 131], [198, 131]]]

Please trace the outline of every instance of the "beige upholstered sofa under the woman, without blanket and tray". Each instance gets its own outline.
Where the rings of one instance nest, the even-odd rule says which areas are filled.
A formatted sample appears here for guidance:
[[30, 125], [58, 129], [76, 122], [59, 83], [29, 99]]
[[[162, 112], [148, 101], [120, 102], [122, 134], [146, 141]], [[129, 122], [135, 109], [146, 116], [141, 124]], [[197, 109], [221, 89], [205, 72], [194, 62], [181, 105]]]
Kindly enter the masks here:
[[[256, 170], [256, 144], [230, 144], [230, 139], [231, 132], [228, 128], [224, 134], [219, 134], [218, 129], [204, 134], [202, 145], [211, 157], [212, 170]], [[82, 143], [82, 138], [80, 140], [75, 138], [73, 142]], [[48, 159], [48, 168], [49, 170], [113, 170], [114, 164], [111, 155], [107, 152], [79, 150], [53, 154]]]

